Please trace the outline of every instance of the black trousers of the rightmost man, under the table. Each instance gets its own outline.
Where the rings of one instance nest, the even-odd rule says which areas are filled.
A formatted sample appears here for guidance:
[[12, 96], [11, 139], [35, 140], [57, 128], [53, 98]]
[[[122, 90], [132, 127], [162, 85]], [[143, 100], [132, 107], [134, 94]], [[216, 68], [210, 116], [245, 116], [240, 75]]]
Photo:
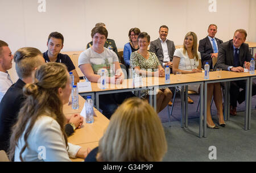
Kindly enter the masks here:
[[[249, 84], [248, 84], [249, 85]], [[253, 95], [256, 95], [256, 85], [253, 82]], [[240, 88], [242, 90], [240, 91]], [[246, 88], [246, 81], [232, 81], [230, 82], [230, 104], [232, 107], [237, 107], [237, 102], [241, 104], [245, 101], [245, 88]]]

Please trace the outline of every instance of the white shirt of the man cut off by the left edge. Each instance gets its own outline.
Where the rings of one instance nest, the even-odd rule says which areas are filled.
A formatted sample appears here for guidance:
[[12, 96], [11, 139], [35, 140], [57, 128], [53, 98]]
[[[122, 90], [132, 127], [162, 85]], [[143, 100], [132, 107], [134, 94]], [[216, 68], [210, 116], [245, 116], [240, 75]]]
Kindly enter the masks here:
[[13, 85], [13, 81], [11, 81], [8, 72], [0, 71], [0, 102], [11, 85]]

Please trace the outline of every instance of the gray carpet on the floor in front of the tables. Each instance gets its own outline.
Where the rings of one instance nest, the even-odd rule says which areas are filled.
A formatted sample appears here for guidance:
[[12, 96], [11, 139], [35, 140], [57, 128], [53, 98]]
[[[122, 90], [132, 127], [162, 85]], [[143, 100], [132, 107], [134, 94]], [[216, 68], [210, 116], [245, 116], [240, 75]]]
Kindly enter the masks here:
[[[191, 117], [188, 128], [181, 128], [180, 121], [163, 123], [168, 144], [163, 161], [256, 161], [256, 109], [252, 112], [251, 130], [243, 129], [244, 111], [241, 111], [230, 116], [225, 128], [207, 128], [207, 138], [198, 137], [198, 118]], [[217, 124], [217, 116], [213, 116], [213, 121]], [[216, 160], [208, 157], [210, 146], [216, 147]]]

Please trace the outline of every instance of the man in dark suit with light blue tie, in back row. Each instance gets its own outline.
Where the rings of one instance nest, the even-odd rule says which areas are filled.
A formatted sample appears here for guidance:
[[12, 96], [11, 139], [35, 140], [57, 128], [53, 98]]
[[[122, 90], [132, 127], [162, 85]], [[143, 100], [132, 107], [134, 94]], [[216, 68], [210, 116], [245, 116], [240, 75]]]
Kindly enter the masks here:
[[210, 24], [208, 27], [208, 36], [199, 41], [199, 52], [201, 53], [202, 67], [208, 62], [210, 69], [213, 69], [212, 58], [218, 57], [218, 48], [222, 40], [215, 37], [217, 33], [216, 24]]

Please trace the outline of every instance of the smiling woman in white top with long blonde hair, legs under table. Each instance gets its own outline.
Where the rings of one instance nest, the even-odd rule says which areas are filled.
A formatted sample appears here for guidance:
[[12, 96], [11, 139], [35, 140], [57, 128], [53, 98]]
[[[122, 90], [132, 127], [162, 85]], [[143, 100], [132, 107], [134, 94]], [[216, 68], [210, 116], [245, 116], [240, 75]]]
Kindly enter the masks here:
[[[174, 73], [180, 71], [186, 73], [201, 73], [201, 56], [197, 51], [197, 36], [194, 32], [188, 32], [185, 35], [183, 48], [176, 49], [172, 70]], [[212, 100], [217, 107], [218, 124], [225, 127], [223, 111], [222, 111], [222, 94], [220, 83], [209, 83], [207, 86], [207, 126], [209, 128], [218, 129], [218, 126], [213, 123], [210, 115], [210, 102]]]

